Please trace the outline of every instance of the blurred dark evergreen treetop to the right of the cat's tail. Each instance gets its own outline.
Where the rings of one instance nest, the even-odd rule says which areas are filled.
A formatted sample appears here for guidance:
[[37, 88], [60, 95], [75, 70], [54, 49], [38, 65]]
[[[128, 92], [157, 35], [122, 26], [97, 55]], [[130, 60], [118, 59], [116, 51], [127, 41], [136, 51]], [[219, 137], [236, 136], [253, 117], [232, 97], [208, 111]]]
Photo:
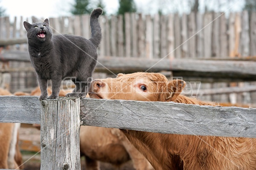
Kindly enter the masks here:
[[133, 0], [119, 0], [119, 9], [117, 14], [124, 15], [125, 12], [136, 12], [136, 5]]

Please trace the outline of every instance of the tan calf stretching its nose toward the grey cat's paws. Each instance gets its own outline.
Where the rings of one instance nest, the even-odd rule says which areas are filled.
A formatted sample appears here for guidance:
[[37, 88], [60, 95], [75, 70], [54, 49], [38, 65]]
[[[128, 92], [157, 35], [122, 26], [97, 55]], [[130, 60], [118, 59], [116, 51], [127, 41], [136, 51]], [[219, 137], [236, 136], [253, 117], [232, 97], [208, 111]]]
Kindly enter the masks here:
[[[159, 73], [119, 74], [92, 82], [90, 98], [212, 105], [180, 95], [186, 83]], [[256, 170], [256, 139], [121, 130], [156, 170]]]

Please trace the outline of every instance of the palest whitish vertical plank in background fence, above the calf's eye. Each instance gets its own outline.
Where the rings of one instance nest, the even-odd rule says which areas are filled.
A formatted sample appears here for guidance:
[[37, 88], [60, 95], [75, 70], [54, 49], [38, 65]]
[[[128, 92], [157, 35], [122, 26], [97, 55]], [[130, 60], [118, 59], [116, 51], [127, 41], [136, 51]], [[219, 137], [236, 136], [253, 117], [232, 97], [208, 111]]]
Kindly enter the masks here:
[[153, 34], [152, 34], [152, 20], [150, 15], [146, 15], [146, 37], [145, 37], [145, 54], [146, 58], [153, 58]]

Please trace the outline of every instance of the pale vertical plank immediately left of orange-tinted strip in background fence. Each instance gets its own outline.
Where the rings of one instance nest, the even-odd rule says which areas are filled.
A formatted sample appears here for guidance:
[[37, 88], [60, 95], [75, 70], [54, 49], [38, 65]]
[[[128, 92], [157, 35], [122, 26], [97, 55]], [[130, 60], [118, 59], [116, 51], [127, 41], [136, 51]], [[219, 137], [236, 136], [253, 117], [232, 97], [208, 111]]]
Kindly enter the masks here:
[[235, 57], [235, 42], [236, 42], [236, 33], [235, 33], [235, 18], [236, 15], [234, 13], [230, 13], [229, 16], [229, 56]]

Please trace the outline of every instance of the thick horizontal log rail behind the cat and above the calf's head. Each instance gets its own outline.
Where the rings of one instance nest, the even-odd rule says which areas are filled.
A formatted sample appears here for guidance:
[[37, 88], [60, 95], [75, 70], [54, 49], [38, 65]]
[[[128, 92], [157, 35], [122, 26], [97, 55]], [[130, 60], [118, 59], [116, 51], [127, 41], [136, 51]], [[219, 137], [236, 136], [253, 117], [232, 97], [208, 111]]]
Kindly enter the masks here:
[[[29, 61], [28, 52], [4, 52], [1, 60]], [[237, 75], [256, 75], [256, 62], [252, 61], [216, 61], [201, 59], [143, 59], [143, 58], [99, 58], [96, 71], [106, 72], [132, 71], [190, 71], [203, 73], [230, 73]], [[219, 75], [215, 75], [219, 76]], [[213, 76], [213, 77], [215, 77]]]

